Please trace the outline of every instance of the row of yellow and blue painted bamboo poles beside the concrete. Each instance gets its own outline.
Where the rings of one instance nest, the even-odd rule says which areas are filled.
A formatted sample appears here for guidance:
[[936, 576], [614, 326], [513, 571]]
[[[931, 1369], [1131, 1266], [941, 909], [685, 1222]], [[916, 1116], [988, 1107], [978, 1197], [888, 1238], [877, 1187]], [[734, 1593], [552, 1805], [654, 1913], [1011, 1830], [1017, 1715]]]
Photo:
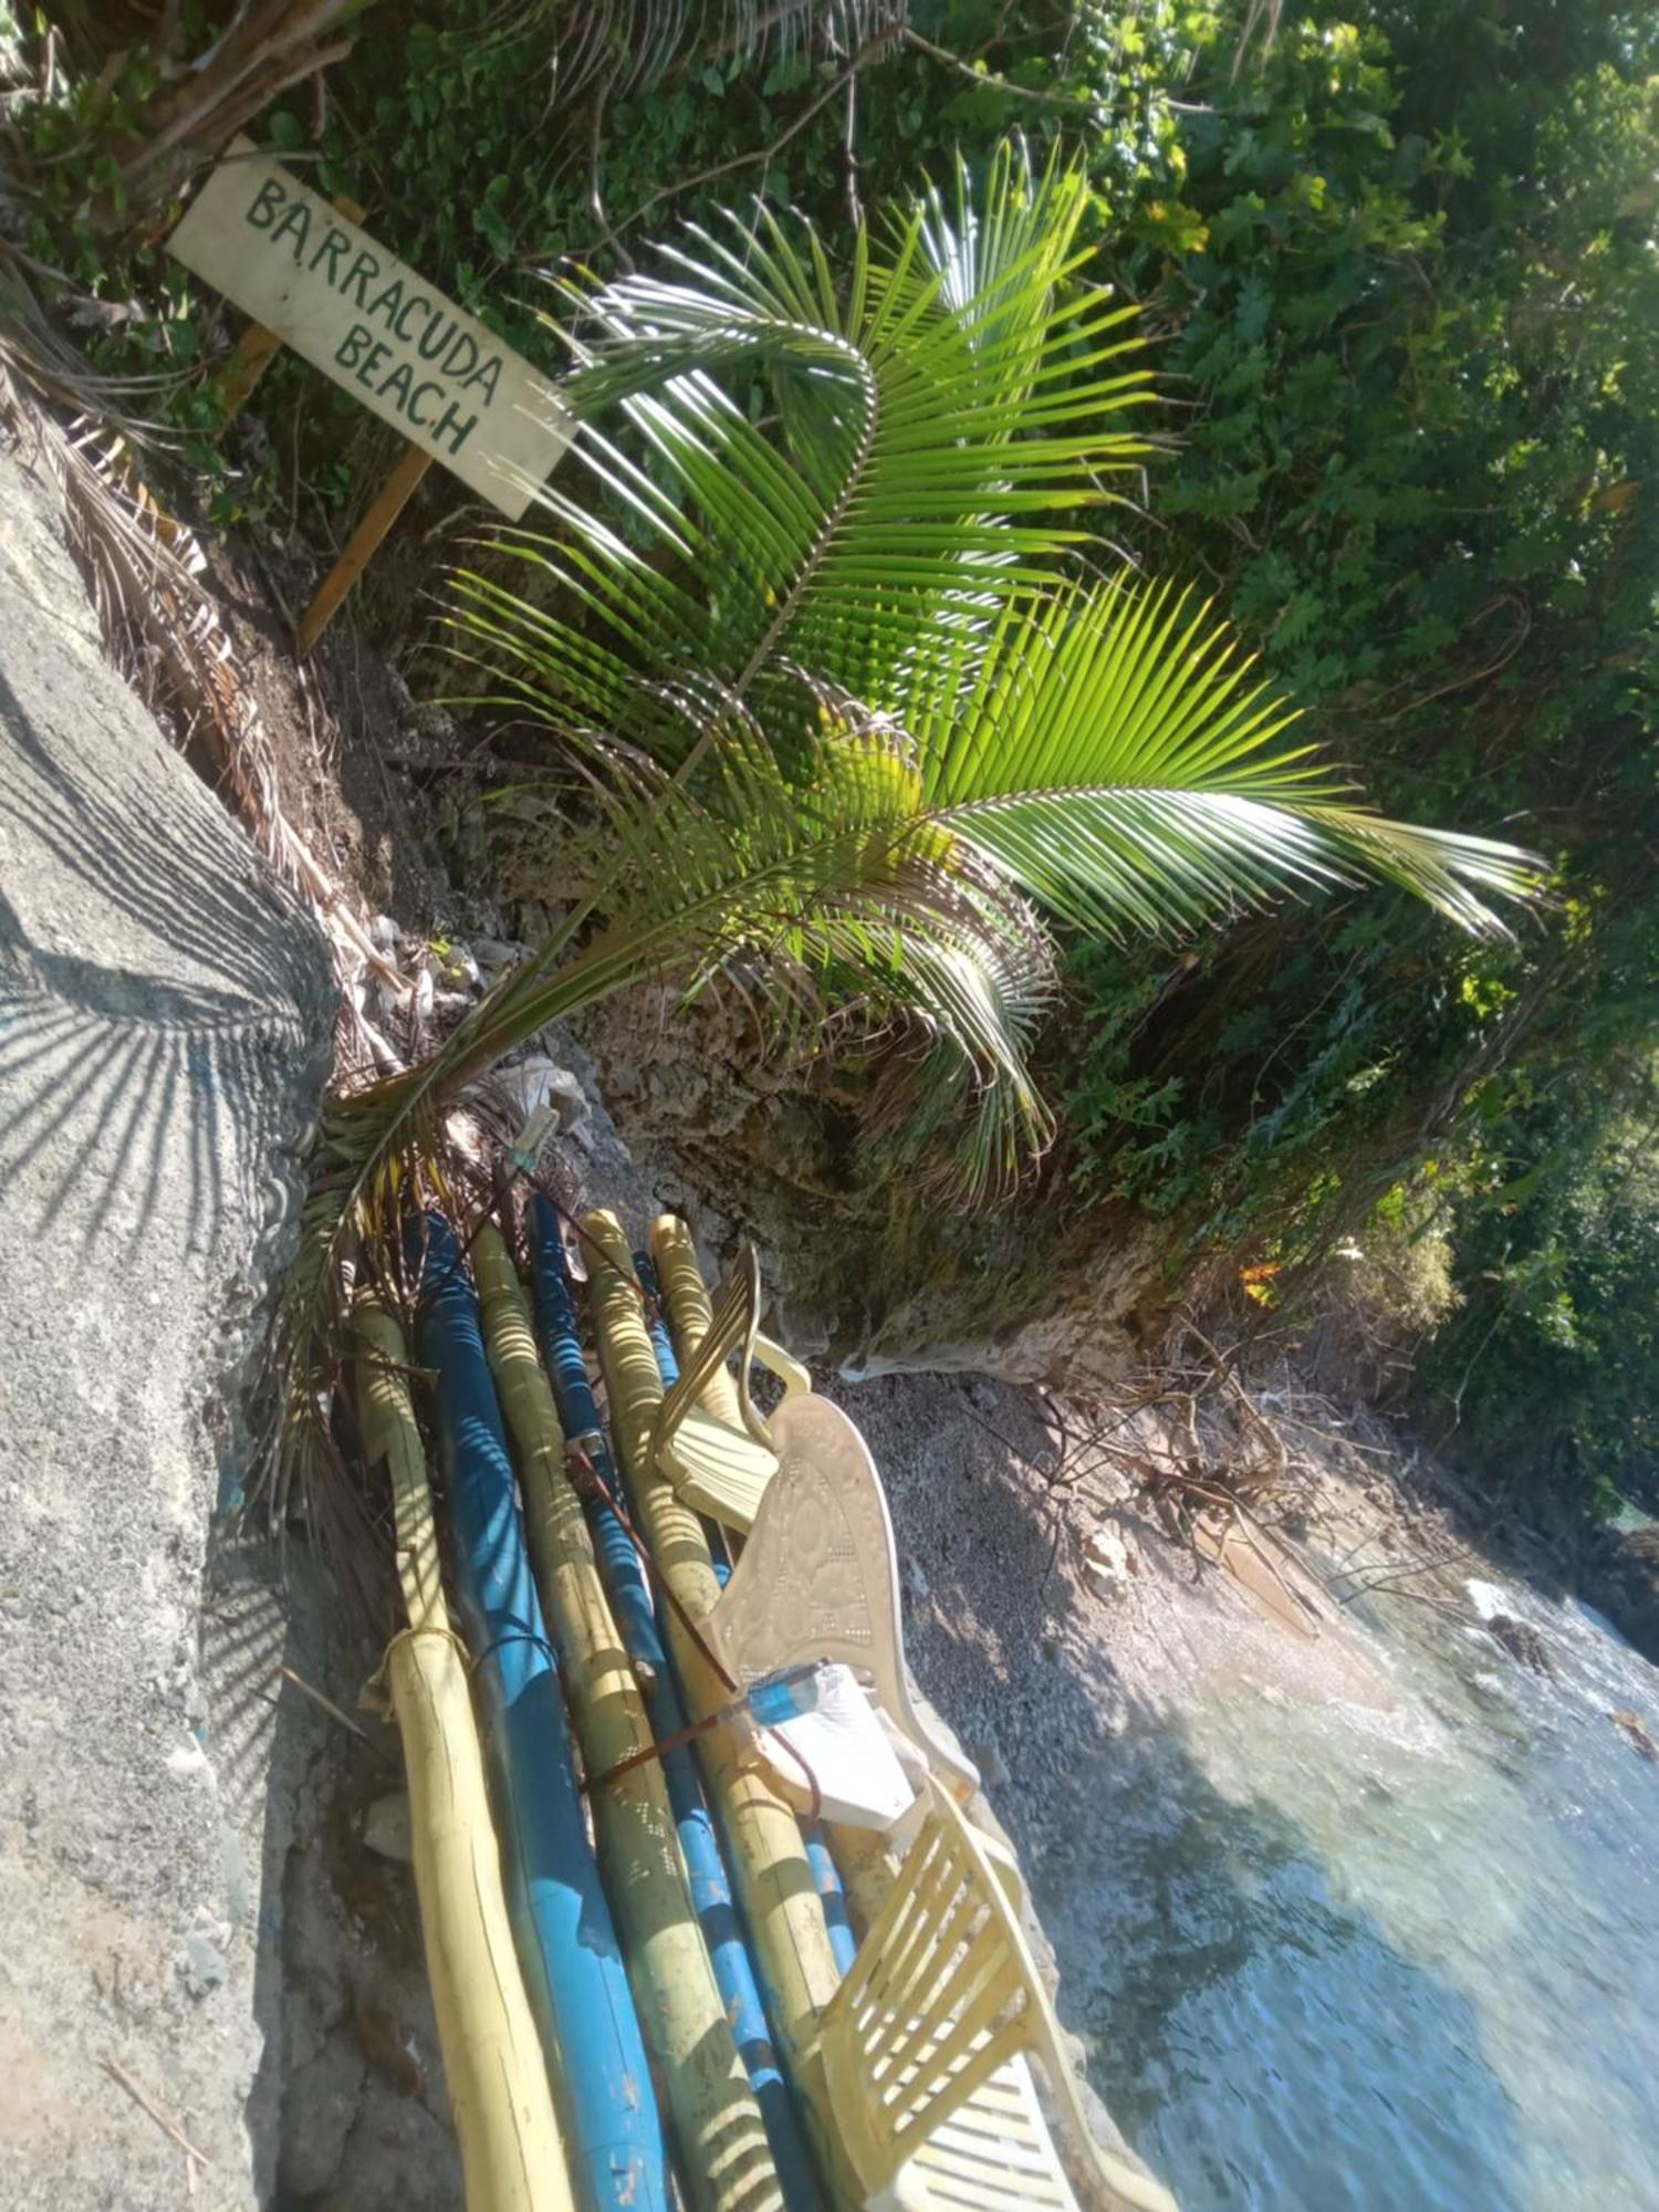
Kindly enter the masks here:
[[[407, 1613], [385, 1688], [469, 2212], [858, 2203], [818, 2015], [894, 1869], [869, 1834], [803, 1825], [717, 1721], [741, 1692], [697, 1624], [726, 1544], [653, 1455], [710, 1323], [690, 1232], [666, 1214], [635, 1256], [613, 1214], [580, 1223], [608, 1425], [557, 1210], [535, 1194], [511, 1232], [524, 1272], [495, 1219], [465, 1245], [442, 1214], [411, 1219], [411, 1332], [374, 1290], [354, 1310]], [[734, 1418], [732, 1389], [721, 1369], [710, 1411]]]

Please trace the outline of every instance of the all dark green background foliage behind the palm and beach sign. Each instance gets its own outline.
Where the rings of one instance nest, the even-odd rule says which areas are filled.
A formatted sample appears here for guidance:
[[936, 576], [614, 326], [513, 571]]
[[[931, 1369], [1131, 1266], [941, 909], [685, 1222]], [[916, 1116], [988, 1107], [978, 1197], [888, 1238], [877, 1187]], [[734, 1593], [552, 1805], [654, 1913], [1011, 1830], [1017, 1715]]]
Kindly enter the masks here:
[[[1559, 902], [1515, 947], [1458, 945], [1400, 898], [1250, 918], [1179, 960], [1084, 933], [1037, 1044], [1068, 1099], [1064, 1172], [1168, 1219], [1172, 1254], [1283, 1265], [1409, 1190], [1455, 1248], [1436, 1402], [1482, 1347], [1455, 1449], [1482, 1462], [1548, 1376], [1582, 1409], [1555, 1471], [1619, 1480], [1639, 1332], [1617, 1316], [1644, 1310], [1646, 1245], [1608, 1192], [1659, 1033], [1655, 22], [1617, 0], [1296, 0], [1272, 38], [1248, 0], [905, 15], [922, 44], [865, 58], [849, 108], [825, 40], [743, 55], [692, 27], [677, 58], [555, 97], [533, 15], [380, 4], [327, 102], [296, 88], [257, 128], [546, 363], [544, 272], [615, 270], [750, 192], [834, 248], [854, 197], [880, 206], [958, 148], [980, 161], [1022, 128], [1079, 150], [1091, 274], [1146, 305], [1175, 434], [1144, 489], [1113, 484], [1157, 524], [1084, 518], [1097, 557], [1217, 591], [1391, 810], [1542, 845]], [[175, 62], [219, 27], [197, 4], [179, 24]], [[270, 447], [232, 467], [215, 369], [234, 319], [153, 237], [111, 250], [159, 58], [108, 44], [108, 69], [88, 53], [53, 102], [7, 111], [24, 243], [91, 301], [102, 369], [161, 376], [144, 403], [223, 520], [288, 493], [290, 456], [319, 500], [347, 495], [347, 403], [279, 363], [257, 411], [281, 469]], [[741, 398], [763, 409], [765, 378]]]

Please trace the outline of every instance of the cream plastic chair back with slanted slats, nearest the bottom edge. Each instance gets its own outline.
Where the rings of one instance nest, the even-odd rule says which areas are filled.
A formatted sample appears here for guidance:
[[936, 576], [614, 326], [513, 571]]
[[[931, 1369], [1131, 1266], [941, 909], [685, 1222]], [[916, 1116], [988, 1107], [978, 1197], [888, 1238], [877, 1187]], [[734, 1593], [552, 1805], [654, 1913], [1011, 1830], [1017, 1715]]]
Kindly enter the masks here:
[[[825, 2079], [860, 2183], [872, 2197], [927, 2201], [925, 2168], [920, 2190], [896, 2188], [909, 2161], [969, 2099], [984, 2110], [991, 2084], [1029, 2053], [1108, 2194], [1135, 2212], [1175, 2212], [1159, 2181], [1095, 2143], [1006, 1887], [949, 1792], [931, 1781], [927, 1792], [927, 1818], [823, 2013]], [[1020, 2185], [995, 2137], [984, 2161], [998, 2192], [984, 2201], [1053, 2203]]]

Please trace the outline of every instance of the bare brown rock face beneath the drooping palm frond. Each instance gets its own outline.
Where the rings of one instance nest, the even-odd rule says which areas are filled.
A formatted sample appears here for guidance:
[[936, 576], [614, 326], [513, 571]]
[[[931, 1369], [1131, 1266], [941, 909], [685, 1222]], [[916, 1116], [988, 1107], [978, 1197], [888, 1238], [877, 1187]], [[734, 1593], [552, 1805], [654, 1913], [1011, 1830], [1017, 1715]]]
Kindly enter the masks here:
[[732, 1004], [630, 993], [582, 1026], [606, 1104], [717, 1259], [754, 1237], [779, 1325], [849, 1374], [1121, 1376], [1164, 1305], [1164, 1241], [1064, 1183], [962, 1212], [858, 1146], [856, 1077], [757, 1071]]

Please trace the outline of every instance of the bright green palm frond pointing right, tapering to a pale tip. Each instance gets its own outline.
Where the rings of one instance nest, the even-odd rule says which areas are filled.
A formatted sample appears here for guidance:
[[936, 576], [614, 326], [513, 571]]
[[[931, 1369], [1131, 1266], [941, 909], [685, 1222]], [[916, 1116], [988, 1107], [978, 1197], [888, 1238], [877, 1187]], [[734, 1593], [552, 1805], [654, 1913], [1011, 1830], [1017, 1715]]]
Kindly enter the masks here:
[[1188, 593], [1093, 584], [1009, 608], [914, 737], [940, 823], [1079, 929], [1194, 927], [1369, 876], [1502, 931], [1491, 898], [1526, 896], [1537, 863], [1367, 812], [1279, 743], [1294, 719]]

